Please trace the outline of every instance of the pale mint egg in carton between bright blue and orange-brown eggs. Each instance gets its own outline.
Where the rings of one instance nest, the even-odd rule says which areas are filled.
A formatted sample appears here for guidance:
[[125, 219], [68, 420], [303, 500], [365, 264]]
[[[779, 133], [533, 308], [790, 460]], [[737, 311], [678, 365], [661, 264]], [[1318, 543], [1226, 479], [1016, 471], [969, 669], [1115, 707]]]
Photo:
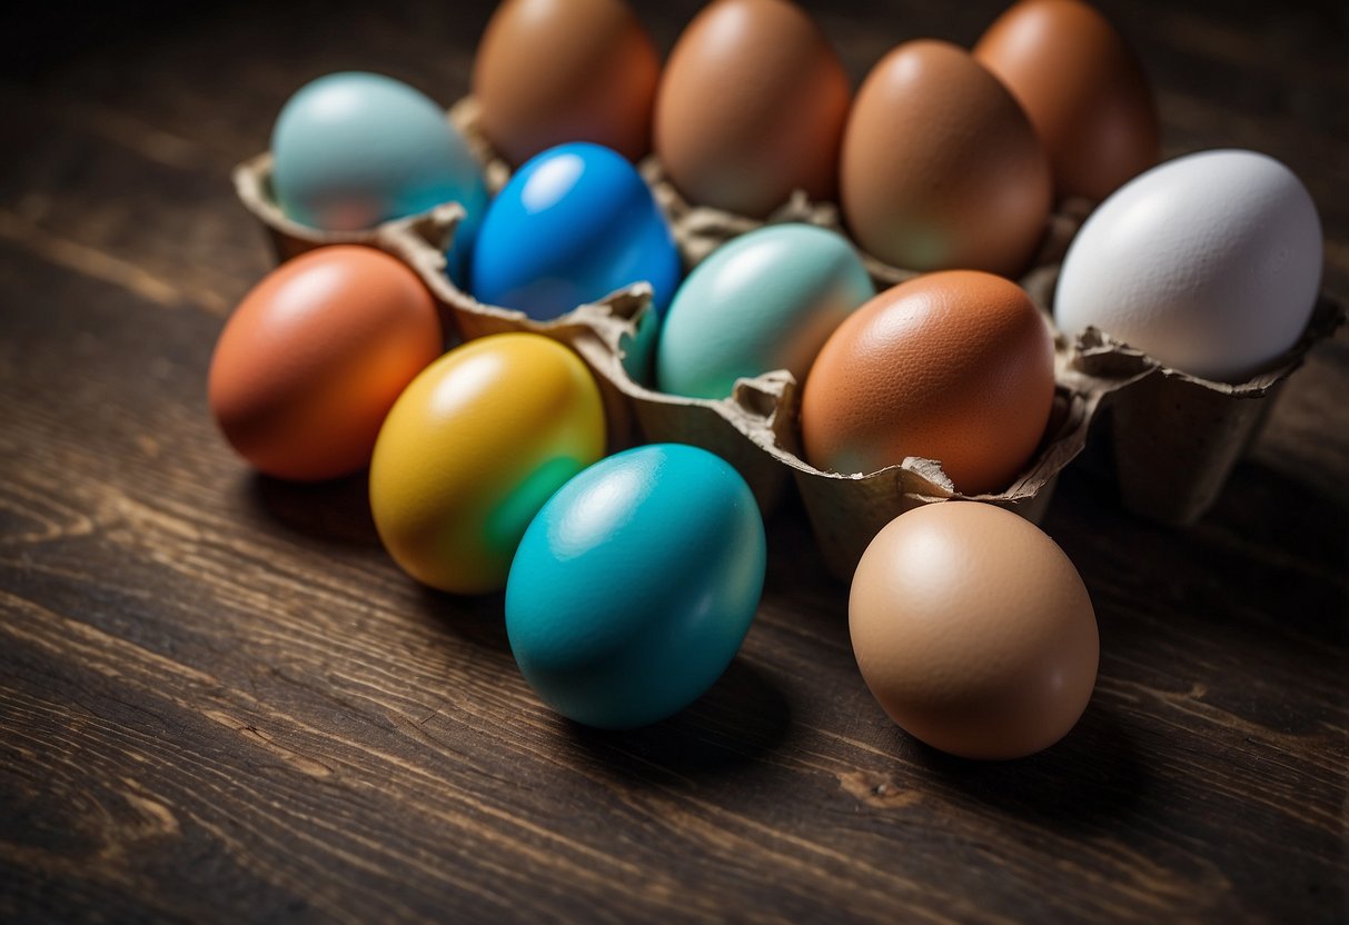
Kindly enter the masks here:
[[726, 398], [735, 380], [788, 369], [804, 382], [815, 355], [876, 295], [842, 235], [768, 225], [714, 251], [674, 294], [656, 351], [664, 392]]

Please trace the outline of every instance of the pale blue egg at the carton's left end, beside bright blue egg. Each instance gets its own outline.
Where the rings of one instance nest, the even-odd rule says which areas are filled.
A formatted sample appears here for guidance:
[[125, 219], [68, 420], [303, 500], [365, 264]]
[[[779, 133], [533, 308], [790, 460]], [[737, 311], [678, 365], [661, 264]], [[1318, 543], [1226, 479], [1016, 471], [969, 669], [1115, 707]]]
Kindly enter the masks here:
[[357, 231], [442, 202], [468, 217], [452, 266], [463, 266], [487, 206], [468, 143], [429, 97], [382, 74], [328, 74], [299, 88], [271, 135], [281, 210], [325, 231]]

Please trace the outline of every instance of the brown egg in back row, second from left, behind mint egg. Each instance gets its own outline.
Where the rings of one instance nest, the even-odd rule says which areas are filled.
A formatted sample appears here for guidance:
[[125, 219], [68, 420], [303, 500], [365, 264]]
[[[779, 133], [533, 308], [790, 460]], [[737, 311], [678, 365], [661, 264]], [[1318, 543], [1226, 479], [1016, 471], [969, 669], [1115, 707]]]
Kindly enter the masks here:
[[762, 217], [793, 190], [834, 198], [850, 88], [819, 27], [786, 0], [716, 0], [670, 53], [656, 154], [697, 205]]

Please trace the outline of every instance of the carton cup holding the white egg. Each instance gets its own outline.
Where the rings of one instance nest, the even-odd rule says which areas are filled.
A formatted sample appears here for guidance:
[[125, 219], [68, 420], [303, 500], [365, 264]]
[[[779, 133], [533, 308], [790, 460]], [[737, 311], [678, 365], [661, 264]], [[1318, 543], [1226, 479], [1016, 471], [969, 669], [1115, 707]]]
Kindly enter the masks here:
[[1091, 440], [1108, 449], [1124, 506], [1183, 527], [1218, 499], [1288, 378], [1344, 322], [1344, 306], [1322, 293], [1298, 342], [1240, 383], [1175, 369], [1087, 328], [1071, 340], [1056, 379], [1097, 399]]

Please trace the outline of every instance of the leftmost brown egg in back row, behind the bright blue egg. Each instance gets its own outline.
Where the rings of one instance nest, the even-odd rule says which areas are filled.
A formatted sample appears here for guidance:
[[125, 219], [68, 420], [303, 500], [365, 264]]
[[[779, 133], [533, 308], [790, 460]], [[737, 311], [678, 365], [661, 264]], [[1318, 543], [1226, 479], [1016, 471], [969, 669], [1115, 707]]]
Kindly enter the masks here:
[[564, 142], [650, 150], [660, 55], [623, 0], [506, 0], [473, 61], [483, 132], [513, 165]]

